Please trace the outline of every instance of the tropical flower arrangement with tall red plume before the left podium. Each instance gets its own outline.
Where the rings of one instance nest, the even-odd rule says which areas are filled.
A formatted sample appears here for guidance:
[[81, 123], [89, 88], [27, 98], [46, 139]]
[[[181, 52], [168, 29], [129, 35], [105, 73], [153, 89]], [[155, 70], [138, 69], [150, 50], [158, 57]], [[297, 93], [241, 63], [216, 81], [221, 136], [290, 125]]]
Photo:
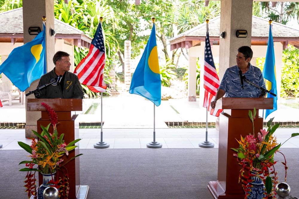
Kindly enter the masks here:
[[[82, 155], [79, 154], [73, 158], [71, 158], [68, 162], [63, 162], [61, 158], [64, 154], [68, 156], [68, 152], [76, 148], [74, 144], [79, 142], [80, 139], [76, 139], [69, 144], [66, 144], [63, 140], [64, 134], [58, 136], [57, 133], [57, 124], [58, 119], [55, 111], [48, 106], [48, 104], [41, 103], [43, 107], [48, 111], [51, 123], [47, 127], [42, 127], [42, 133], [39, 134], [36, 131], [33, 133], [38, 137], [38, 141], [31, 137], [32, 139], [31, 145], [25, 144], [23, 142], [18, 142], [18, 144], [25, 149], [31, 158], [30, 161], [22, 161], [19, 164], [25, 164], [26, 168], [20, 169], [20, 171], [27, 171], [26, 180], [24, 181], [26, 192], [28, 192], [28, 198], [31, 195], [36, 196], [36, 178], [35, 172], [41, 172], [43, 174], [53, 174], [57, 170], [61, 170], [65, 164], [67, 164], [72, 159]], [[53, 134], [49, 133], [49, 127], [52, 124], [53, 126]], [[35, 165], [38, 165], [37, 168], [33, 168]], [[60, 196], [68, 195], [68, 174], [65, 174], [60, 180], [54, 181], [51, 180], [49, 183], [54, 184], [57, 189], [60, 188]]]

